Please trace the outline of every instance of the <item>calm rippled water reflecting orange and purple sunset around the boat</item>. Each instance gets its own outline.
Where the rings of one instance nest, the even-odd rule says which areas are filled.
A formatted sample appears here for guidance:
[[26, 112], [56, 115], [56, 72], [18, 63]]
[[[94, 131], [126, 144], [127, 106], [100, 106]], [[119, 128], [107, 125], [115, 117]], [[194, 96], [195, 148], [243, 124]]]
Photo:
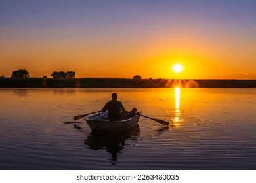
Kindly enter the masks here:
[[[148, 118], [95, 138], [112, 92]], [[256, 89], [0, 89], [0, 169], [256, 169]]]

